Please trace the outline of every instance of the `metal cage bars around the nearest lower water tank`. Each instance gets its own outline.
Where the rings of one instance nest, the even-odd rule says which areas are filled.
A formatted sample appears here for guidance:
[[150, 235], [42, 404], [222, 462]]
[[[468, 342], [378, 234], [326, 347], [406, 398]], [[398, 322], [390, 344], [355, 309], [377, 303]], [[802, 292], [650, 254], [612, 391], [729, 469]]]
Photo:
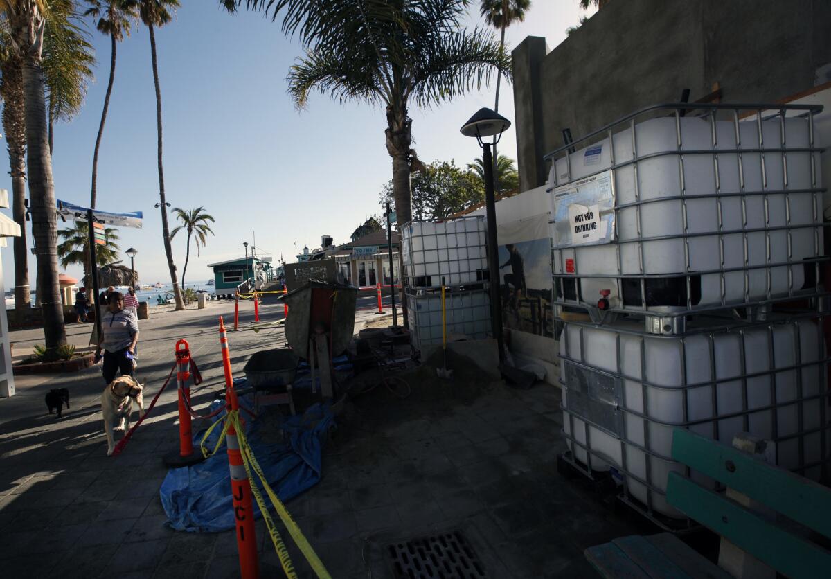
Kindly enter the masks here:
[[[671, 456], [665, 456], [662, 454], [657, 453], [655, 450], [651, 449], [651, 439], [650, 439], [650, 425], [651, 424], [660, 424], [662, 426], [667, 427], [675, 427], [675, 428], [689, 428], [693, 425], [698, 424], [707, 424], [711, 423], [713, 425], [713, 439], [719, 439], [719, 422], [720, 420], [728, 420], [731, 418], [742, 418], [742, 426], [743, 429], [746, 431], [749, 430], [749, 420], [750, 415], [760, 412], [768, 411], [771, 413], [771, 429], [772, 429], [772, 436], [771, 439], [777, 443], [776, 446], [776, 455], [775, 460], [776, 463], [779, 464], [779, 443], [785, 440], [790, 439], [799, 439], [799, 466], [796, 469], [793, 469], [794, 472], [803, 474], [807, 469], [812, 469], [815, 467], [819, 467], [822, 475], [826, 475], [825, 467], [829, 463], [829, 448], [828, 448], [828, 431], [831, 429], [831, 423], [829, 423], [828, 412], [829, 409], [827, 405], [829, 404], [829, 392], [828, 388], [828, 380], [829, 380], [829, 363], [831, 363], [831, 358], [829, 358], [828, 351], [827, 351], [827, 344], [824, 341], [824, 333], [823, 333], [823, 326], [824, 326], [824, 319], [825, 317], [829, 316], [829, 314], [824, 315], [817, 315], [815, 312], [804, 312], [803, 314], [788, 316], [787, 318], [783, 318], [777, 321], [769, 321], [766, 323], [746, 323], [741, 324], [740, 326], [735, 326], [735, 324], [726, 323], [720, 326], [708, 326], [706, 328], [701, 328], [698, 331], [691, 331], [688, 332], [684, 336], [656, 336], [646, 331], [632, 331], [627, 329], [615, 329], [617, 332], [617, 336], [615, 338], [616, 344], [616, 351], [615, 351], [615, 366], [617, 368], [616, 371], [609, 371], [609, 370], [600, 370], [596, 367], [588, 365], [585, 361], [585, 341], [583, 337], [583, 330], [586, 327], [597, 327], [590, 323], [585, 322], [572, 322], [569, 321], [568, 325], [579, 326], [580, 327], [580, 360], [575, 360], [570, 358], [569, 356], [563, 356], [562, 354], [558, 354], [558, 357], [563, 364], [573, 364], [575, 366], [583, 367], [588, 370], [599, 371], [602, 374], [612, 375], [615, 380], [616, 384], [622, 384], [623, 380], [630, 380], [631, 382], [638, 382], [641, 384], [641, 402], [643, 412], [637, 412], [637, 410], [632, 410], [627, 408], [626, 404], [626, 389], [625, 388], [618, 388], [617, 390], [621, 393], [622, 399], [619, 400], [616, 407], [617, 410], [620, 410], [620, 420], [621, 426], [619, 430], [622, 432], [622, 436], [610, 431], [606, 427], [602, 426], [601, 424], [597, 424], [593, 420], [590, 420], [588, 417], [577, 415], [573, 412], [573, 409], [570, 409], [568, 406], [561, 404], [560, 409], [563, 410], [563, 420], [569, 421], [569, 433], [563, 429], [561, 430], [563, 437], [568, 440], [568, 442], [572, 445], [571, 451], [567, 454], [561, 455], [561, 457], [566, 460], [569, 464], [571, 464], [576, 470], [578, 470], [581, 474], [585, 475], [588, 478], [595, 478], [596, 469], [592, 469], [590, 461], [589, 464], [583, 464], [574, 456], [574, 449], [576, 447], [580, 447], [583, 451], [586, 452], [586, 456], [591, 454], [593, 457], [605, 462], [609, 463], [609, 459], [607, 456], [603, 456], [602, 454], [597, 453], [595, 449], [591, 447], [591, 437], [590, 437], [590, 429], [589, 427], [592, 426], [598, 430], [602, 430], [604, 433], [612, 436], [612, 438], [618, 439], [621, 445], [621, 459], [622, 464], [615, 465], [610, 464], [612, 469], [616, 469], [622, 475], [623, 478], [623, 491], [621, 500], [624, 503], [627, 503], [630, 507], [634, 508], [637, 512], [641, 513], [642, 515], [646, 516], [653, 523], [656, 523], [660, 527], [665, 529], [674, 529], [678, 530], [679, 527], [690, 527], [692, 526], [691, 521], [689, 519], [671, 519], [662, 515], [661, 513], [656, 513], [652, 508], [652, 502], [654, 493], [657, 493], [662, 496], [666, 496], [666, 491], [662, 491], [660, 488], [656, 488], [654, 484], [652, 484], [652, 460], [658, 459], [665, 461], [667, 463], [678, 464], [679, 466], [683, 466], [684, 474], [686, 477], [690, 476], [690, 468], [686, 465], [682, 465], [677, 463], [675, 460], [671, 459]], [[816, 321], [817, 333], [818, 333], [818, 360], [816, 361], [807, 361], [804, 362], [802, 360], [802, 351], [801, 351], [801, 344], [800, 344], [800, 333], [799, 333], [799, 325], [798, 322], [801, 320], [814, 320]], [[790, 366], [782, 366], [776, 367], [775, 364], [775, 356], [774, 356], [774, 337], [773, 337], [773, 329], [774, 326], [779, 325], [792, 325], [794, 326], [794, 336], [795, 336], [795, 343], [794, 343], [794, 360], [795, 363]], [[770, 356], [770, 366], [769, 370], [762, 371], [762, 372], [755, 372], [755, 373], [748, 373], [745, 369], [745, 331], [749, 330], [750, 328], [760, 328], [765, 327], [767, 329], [767, 343], [768, 343], [768, 351]], [[740, 335], [740, 366], [741, 371], [740, 375], [730, 376], [729, 378], [722, 378], [717, 379], [715, 377], [716, 370], [715, 370], [715, 356], [714, 356], [714, 348], [715, 348], [715, 335], [716, 334], [723, 334], [725, 332], [736, 332]], [[625, 375], [622, 373], [622, 351], [621, 351], [621, 341], [620, 335], [621, 334], [630, 334], [634, 336], [642, 336], [641, 341], [641, 373], [642, 378], [634, 377]], [[685, 355], [685, 341], [690, 336], [707, 336], [709, 340], [709, 347], [710, 347], [710, 375], [711, 380], [706, 380], [704, 382], [698, 383], [688, 383], [687, 376], [686, 376], [686, 355]], [[677, 340], [677, 343], [680, 348], [680, 356], [681, 356], [681, 379], [682, 383], [681, 386], [666, 386], [666, 385], [656, 385], [652, 382], [646, 380], [647, 375], [647, 355], [646, 355], [646, 340]], [[568, 347], [568, 331], [563, 331], [562, 338], [565, 341], [565, 351], [570, 352], [570, 348]], [[803, 395], [803, 377], [802, 377], [802, 370], [812, 366], [819, 366], [820, 371], [819, 375], [821, 376], [821, 382], [819, 385], [819, 394], [817, 395]], [[776, 398], [776, 375], [793, 371], [796, 375], [796, 396], [793, 400], [788, 400], [787, 402], [779, 402]], [[757, 408], [749, 409], [748, 408], [748, 384], [747, 380], [752, 378], [758, 377], [770, 377], [770, 404], [765, 406], [760, 406]], [[737, 380], [741, 380], [741, 403], [742, 403], [742, 410], [739, 412], [732, 412], [725, 415], [718, 414], [718, 385], [721, 383], [726, 382], [735, 382]], [[568, 385], [563, 381], [562, 377], [559, 379], [560, 385], [563, 387], [563, 395], [568, 395]], [[689, 418], [689, 409], [688, 405], [689, 402], [689, 392], [693, 388], [701, 388], [710, 386], [711, 388], [711, 404], [713, 409], [713, 415], [706, 419], [699, 419], [699, 420], [690, 420]], [[672, 390], [672, 391], [681, 391], [682, 395], [682, 416], [683, 420], [678, 423], [671, 423], [662, 420], [656, 420], [648, 415], [649, 406], [648, 406], [648, 390], [650, 388], [654, 388], [656, 390]], [[568, 400], [568, 399], [567, 399]], [[803, 412], [804, 412], [804, 403], [810, 400], [817, 400], [819, 405], [819, 427], [814, 429], [805, 430], [803, 424]], [[797, 407], [797, 429], [796, 434], [787, 434], [784, 436], [780, 436], [778, 433], [778, 416], [777, 411], [789, 407], [792, 405], [796, 405]], [[643, 439], [644, 444], [638, 444], [637, 442], [629, 439], [627, 437], [627, 423], [628, 415], [632, 415], [633, 417], [642, 420], [643, 423]], [[585, 444], [578, 441], [575, 433], [576, 433], [576, 426], [574, 419], [577, 418], [578, 420], [583, 421], [583, 435], [584, 440], [586, 441]], [[819, 433], [820, 439], [820, 460], [814, 461], [812, 463], [805, 463], [804, 454], [805, 454], [805, 437], [810, 434]], [[638, 476], [637, 474], [633, 474], [627, 468], [627, 453], [626, 447], [631, 446], [632, 448], [641, 450], [643, 454], [645, 454], [645, 473], [646, 479]], [[633, 481], [640, 483], [644, 488], [646, 488], [647, 493], [647, 503], [641, 503], [637, 498], [632, 497], [632, 493], [629, 489], [629, 482], [627, 478], [631, 478]]]

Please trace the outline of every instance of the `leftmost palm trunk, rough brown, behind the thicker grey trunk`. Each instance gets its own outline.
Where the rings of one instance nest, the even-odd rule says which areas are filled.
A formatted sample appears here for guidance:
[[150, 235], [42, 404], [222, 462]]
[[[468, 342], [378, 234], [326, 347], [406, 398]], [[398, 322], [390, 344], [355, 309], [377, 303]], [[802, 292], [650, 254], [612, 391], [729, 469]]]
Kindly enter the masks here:
[[29, 256], [26, 232], [26, 120], [23, 110], [23, 77], [19, 58], [7, 56], [2, 63], [0, 95], [3, 99], [2, 128], [8, 150], [8, 174], [12, 177], [12, 218], [20, 226], [14, 238], [14, 311], [22, 322], [32, 307], [29, 287]]

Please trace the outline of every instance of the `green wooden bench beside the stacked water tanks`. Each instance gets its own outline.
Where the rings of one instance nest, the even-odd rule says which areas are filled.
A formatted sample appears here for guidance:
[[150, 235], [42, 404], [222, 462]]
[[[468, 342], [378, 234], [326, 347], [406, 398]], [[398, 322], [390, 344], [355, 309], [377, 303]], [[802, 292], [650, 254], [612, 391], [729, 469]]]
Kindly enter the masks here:
[[[770, 567], [762, 571], [769, 576], [775, 570], [793, 579], [831, 577], [831, 552], [809, 536], [815, 532], [831, 538], [831, 489], [686, 429], [673, 434], [672, 459], [722, 483], [732, 498], [673, 472], [667, 479], [667, 502], [722, 537], [725, 567], [735, 567], [730, 561], [735, 552], [758, 561], [747, 562], [751, 571], [734, 568], [731, 575], [681, 539], [660, 533], [586, 549], [586, 558], [602, 577], [761, 577], [759, 562]], [[725, 545], [732, 549], [727, 557]]]

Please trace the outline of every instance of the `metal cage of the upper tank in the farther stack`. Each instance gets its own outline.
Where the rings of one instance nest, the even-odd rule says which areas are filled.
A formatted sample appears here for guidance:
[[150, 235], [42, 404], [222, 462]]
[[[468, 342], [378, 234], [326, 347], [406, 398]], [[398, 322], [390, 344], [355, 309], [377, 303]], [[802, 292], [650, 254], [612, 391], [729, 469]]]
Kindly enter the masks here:
[[[412, 235], [411, 232], [412, 232], [412, 226], [415, 223], [435, 224], [435, 223], [449, 223], [449, 222], [465, 223], [465, 231], [464, 232], [455, 232], [454, 233], [454, 234], [460, 234], [460, 233], [465, 234], [465, 245], [463, 245], [463, 246], [456, 245], [453, 248], [450, 248], [450, 247], [438, 248], [438, 240], [436, 240], [436, 249], [435, 250], [434, 249], [425, 249], [425, 248], [418, 249], [418, 250], [413, 249], [413, 247], [412, 247], [413, 235]], [[467, 228], [468, 223], [477, 223], [477, 227], [475, 229], [468, 229]], [[422, 231], [423, 231], [423, 226], [422, 226]], [[470, 245], [469, 243], [467, 243], [467, 234], [468, 233], [481, 233], [482, 243], [478, 243], [478, 244], [475, 244], [475, 245]], [[423, 275], [423, 276], [416, 276], [416, 275], [412, 275], [411, 272], [406, 272], [406, 275], [404, 276], [405, 281], [406, 281], [406, 286], [416, 288], [416, 289], [435, 289], [435, 288], [440, 288], [443, 285], [445, 287], [449, 287], [449, 286], [461, 287], [461, 286], [470, 285], [470, 284], [477, 283], [477, 282], [479, 282], [479, 283], [487, 282], [488, 281], [488, 251], [487, 251], [487, 247], [486, 247], [487, 243], [486, 243], [486, 240], [485, 240], [485, 235], [486, 234], [487, 234], [487, 227], [484, 223], [484, 216], [481, 216], [481, 215], [466, 215], [466, 216], [462, 216], [462, 217], [459, 217], [459, 218], [453, 218], [453, 219], [413, 219], [412, 221], [410, 221], [408, 223], [405, 223], [404, 227], [401, 228], [401, 255], [404, 258], [404, 265], [405, 265], [406, 268], [407, 267], [413, 267], [415, 265], [421, 265], [421, 266], [425, 267], [425, 275]], [[429, 237], [438, 238], [439, 235], [445, 235], [445, 233], [426, 233], [426, 234], [421, 233], [418, 237], [420, 237], [420, 238], [429, 238]], [[464, 260], [461, 260], [460, 258], [456, 258], [456, 259], [450, 259], [450, 258], [439, 259], [438, 258], [438, 252], [441, 249], [444, 249], [445, 251], [448, 251], [448, 253], [449, 253], [450, 249], [457, 249], [458, 250], [458, 249], [470, 249], [470, 248], [477, 248], [477, 249], [481, 250], [482, 257], [481, 258], [472, 258], [472, 259], [480, 260], [483, 267], [481, 267], [479, 269], [475, 269], [475, 270], [470, 270], [470, 269], [462, 270], [460, 268], [459, 272], [450, 272], [450, 263], [458, 263], [460, 261], [470, 262], [471, 258], [465, 258]], [[424, 259], [424, 261], [421, 261], [421, 262], [416, 262], [415, 261], [416, 253], [421, 253], [422, 257], [426, 257], [425, 253], [428, 252], [428, 251], [435, 251], [437, 258], [435, 260], [430, 260], [430, 261], [427, 261], [426, 259]], [[437, 264], [437, 269], [438, 269], [439, 273], [427, 274], [426, 273], [427, 265], [428, 264], [433, 264], [433, 263]], [[445, 269], [445, 272], [442, 272], [443, 267]], [[454, 282], [450, 278], [451, 275], [457, 275], [460, 278], [463, 275], [467, 275], [468, 277], [470, 277], [470, 280], [468, 280], [466, 282], [460, 282], [460, 281]], [[433, 279], [433, 278], [435, 278], [435, 279]], [[430, 282], [427, 282], [428, 279], [430, 279]], [[443, 279], [445, 280], [444, 282], [442, 282]], [[434, 282], [438, 282], [438, 283], [434, 283]]]

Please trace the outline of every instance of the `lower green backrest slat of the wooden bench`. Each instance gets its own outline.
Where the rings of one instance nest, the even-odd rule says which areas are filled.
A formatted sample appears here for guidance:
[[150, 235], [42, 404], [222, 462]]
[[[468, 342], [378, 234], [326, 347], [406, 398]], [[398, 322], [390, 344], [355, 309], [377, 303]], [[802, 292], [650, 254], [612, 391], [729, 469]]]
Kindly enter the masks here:
[[821, 569], [831, 569], [831, 552], [681, 474], [670, 473], [666, 499], [682, 513], [791, 579], [813, 579]]

